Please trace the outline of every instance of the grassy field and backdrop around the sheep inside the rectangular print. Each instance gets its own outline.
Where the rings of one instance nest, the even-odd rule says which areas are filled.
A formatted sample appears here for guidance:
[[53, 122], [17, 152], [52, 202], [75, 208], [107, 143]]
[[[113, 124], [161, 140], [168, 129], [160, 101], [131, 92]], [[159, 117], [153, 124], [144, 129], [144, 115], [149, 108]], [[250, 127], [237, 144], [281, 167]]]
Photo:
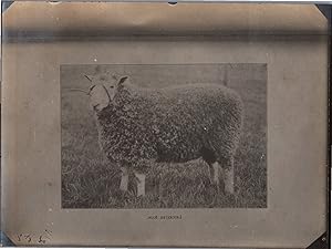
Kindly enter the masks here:
[[[145, 87], [218, 83], [237, 91], [245, 104], [243, 131], [235, 158], [234, 196], [217, 194], [201, 160], [156, 164], [147, 175], [146, 196], [118, 189], [120, 172], [97, 143], [89, 98], [66, 87], [89, 89], [84, 74], [129, 75]], [[267, 207], [267, 65], [62, 65], [62, 207], [63, 208], [264, 208]]]

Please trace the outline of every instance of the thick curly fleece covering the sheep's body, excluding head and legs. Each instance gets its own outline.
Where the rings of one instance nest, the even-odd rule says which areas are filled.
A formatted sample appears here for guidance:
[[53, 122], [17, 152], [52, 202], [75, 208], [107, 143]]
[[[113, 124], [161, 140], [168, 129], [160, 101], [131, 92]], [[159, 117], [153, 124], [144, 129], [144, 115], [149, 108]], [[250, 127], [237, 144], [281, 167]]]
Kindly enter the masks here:
[[229, 155], [241, 123], [241, 101], [231, 90], [209, 84], [135, 90], [98, 117], [100, 141], [111, 160], [185, 162], [203, 146]]

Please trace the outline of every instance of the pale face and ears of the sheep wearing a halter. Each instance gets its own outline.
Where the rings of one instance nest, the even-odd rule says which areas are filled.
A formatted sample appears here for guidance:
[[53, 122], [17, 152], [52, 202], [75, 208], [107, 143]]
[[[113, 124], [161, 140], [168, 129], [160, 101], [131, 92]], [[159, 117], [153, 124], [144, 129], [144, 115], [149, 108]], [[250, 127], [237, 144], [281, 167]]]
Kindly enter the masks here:
[[128, 79], [128, 76], [117, 76], [108, 73], [85, 76], [92, 83], [89, 95], [91, 107], [95, 112], [100, 112], [107, 107]]

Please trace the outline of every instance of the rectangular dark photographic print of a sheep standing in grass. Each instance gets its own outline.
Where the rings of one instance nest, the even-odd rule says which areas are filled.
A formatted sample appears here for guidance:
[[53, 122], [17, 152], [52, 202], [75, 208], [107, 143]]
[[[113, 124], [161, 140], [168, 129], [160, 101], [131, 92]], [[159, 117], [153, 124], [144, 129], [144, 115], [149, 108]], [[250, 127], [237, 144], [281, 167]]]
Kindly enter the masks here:
[[266, 208], [267, 64], [63, 64], [63, 208]]

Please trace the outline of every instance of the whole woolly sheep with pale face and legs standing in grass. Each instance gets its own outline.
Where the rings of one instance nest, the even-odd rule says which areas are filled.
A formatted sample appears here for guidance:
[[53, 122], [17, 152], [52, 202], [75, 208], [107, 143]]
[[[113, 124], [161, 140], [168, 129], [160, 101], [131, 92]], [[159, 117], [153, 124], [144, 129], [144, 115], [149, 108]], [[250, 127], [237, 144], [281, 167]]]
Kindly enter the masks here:
[[85, 75], [101, 149], [122, 170], [120, 189], [136, 176], [137, 196], [145, 195], [145, 175], [156, 163], [203, 158], [210, 181], [234, 194], [234, 157], [242, 127], [240, 96], [220, 84], [184, 84], [144, 89], [127, 75]]

